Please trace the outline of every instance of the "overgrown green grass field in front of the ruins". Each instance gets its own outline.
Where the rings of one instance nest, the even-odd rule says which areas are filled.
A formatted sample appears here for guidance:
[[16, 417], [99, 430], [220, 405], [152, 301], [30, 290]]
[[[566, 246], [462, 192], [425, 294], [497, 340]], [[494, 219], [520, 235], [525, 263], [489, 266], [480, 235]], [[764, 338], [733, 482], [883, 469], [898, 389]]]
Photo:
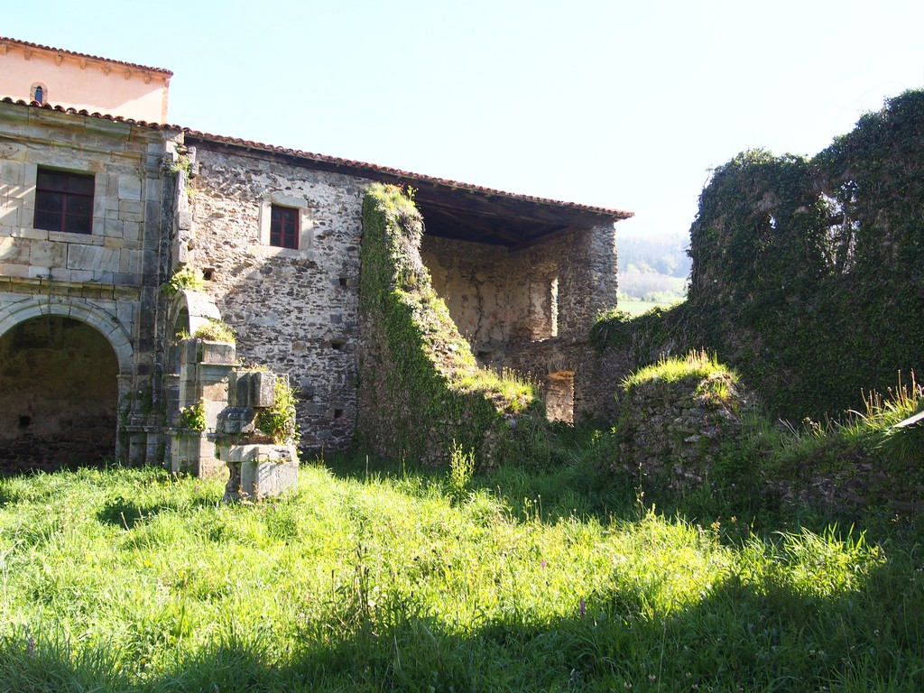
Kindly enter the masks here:
[[924, 689], [904, 522], [652, 507], [579, 462], [329, 464], [258, 505], [153, 468], [0, 480], [0, 689]]

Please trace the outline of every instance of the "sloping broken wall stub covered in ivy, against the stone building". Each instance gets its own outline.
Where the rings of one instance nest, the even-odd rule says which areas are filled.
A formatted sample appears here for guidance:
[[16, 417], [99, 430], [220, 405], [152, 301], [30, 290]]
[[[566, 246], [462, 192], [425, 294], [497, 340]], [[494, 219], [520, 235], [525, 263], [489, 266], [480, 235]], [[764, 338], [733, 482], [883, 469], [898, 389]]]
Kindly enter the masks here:
[[482, 465], [527, 452], [544, 433], [541, 400], [529, 383], [479, 368], [420, 260], [413, 201], [375, 184], [362, 224], [359, 444], [430, 464], [458, 448]]

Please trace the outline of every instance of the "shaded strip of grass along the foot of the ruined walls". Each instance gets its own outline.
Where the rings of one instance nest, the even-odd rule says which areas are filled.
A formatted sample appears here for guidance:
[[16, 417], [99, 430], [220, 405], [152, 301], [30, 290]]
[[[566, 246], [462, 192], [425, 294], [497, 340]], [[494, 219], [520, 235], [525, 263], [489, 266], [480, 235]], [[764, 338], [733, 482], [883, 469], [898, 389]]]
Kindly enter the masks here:
[[[400, 460], [358, 453], [328, 455], [319, 459], [336, 478], [359, 483], [390, 479], [401, 482], [406, 492], [453, 493], [448, 468], [411, 466]], [[664, 517], [677, 517], [702, 527], [714, 527], [723, 541], [738, 542], [752, 534], [810, 529], [823, 533], [830, 527], [848, 533], [865, 529], [870, 541], [885, 541], [896, 533], [909, 541], [924, 543], [920, 517], [896, 515], [888, 508], [838, 508], [784, 504], [770, 494], [740, 489], [701, 488], [671, 492], [638, 475], [605, 468], [594, 459], [537, 470], [505, 465], [476, 473], [465, 492], [487, 492], [507, 508], [511, 517], [556, 522], [561, 519], [595, 518], [631, 521], [652, 509]]]

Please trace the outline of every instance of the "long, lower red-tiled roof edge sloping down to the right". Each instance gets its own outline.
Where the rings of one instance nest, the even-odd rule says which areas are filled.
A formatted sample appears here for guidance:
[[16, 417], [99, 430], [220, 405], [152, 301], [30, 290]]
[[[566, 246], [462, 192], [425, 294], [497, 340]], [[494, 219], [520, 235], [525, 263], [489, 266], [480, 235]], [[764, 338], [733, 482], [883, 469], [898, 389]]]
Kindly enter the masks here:
[[245, 149], [261, 150], [262, 152], [271, 152], [275, 154], [282, 154], [285, 156], [292, 156], [298, 159], [303, 159], [306, 161], [318, 162], [320, 164], [327, 164], [333, 166], [342, 166], [347, 169], [352, 169], [356, 171], [359, 175], [363, 173], [369, 174], [371, 176], [394, 176], [397, 178], [404, 178], [407, 180], [416, 180], [422, 183], [428, 183], [436, 186], [444, 186], [446, 188], [456, 188], [460, 190], [467, 190], [469, 192], [479, 193], [481, 195], [488, 196], [498, 196], [504, 197], [509, 200], [517, 200], [524, 202], [533, 202], [535, 204], [541, 205], [551, 205], [554, 207], [560, 207], [563, 209], [574, 210], [576, 212], [590, 213], [590, 214], [599, 214], [602, 216], [612, 217], [614, 219], [628, 219], [629, 217], [635, 216], [633, 212], [626, 212], [625, 210], [616, 210], [606, 207], [595, 207], [586, 204], [578, 204], [577, 202], [565, 202], [560, 200], [552, 200], [549, 198], [540, 198], [534, 197], [532, 195], [522, 195], [515, 192], [506, 192], [505, 190], [498, 190], [494, 188], [484, 188], [483, 186], [476, 186], [470, 183], [462, 183], [456, 180], [448, 180], [446, 178], [439, 178], [435, 176], [425, 176], [423, 174], [412, 173], [410, 171], [402, 171], [397, 168], [391, 168], [390, 166], [382, 166], [379, 164], [367, 164], [365, 162], [354, 161], [351, 159], [341, 159], [336, 156], [327, 156], [326, 154], [316, 154], [313, 152], [304, 152], [298, 149], [291, 149], [287, 147], [277, 147], [272, 144], [264, 144], [262, 142], [255, 142], [252, 140], [242, 140], [240, 138], [234, 137], [225, 137], [224, 135], [213, 135], [208, 132], [202, 132], [201, 130], [194, 130], [192, 128], [183, 128], [182, 126], [177, 125], [168, 125], [165, 123], [148, 123], [144, 120], [134, 120], [132, 118], [126, 118], [123, 116], [109, 116], [101, 113], [90, 113], [87, 110], [76, 110], [74, 108], [65, 108], [64, 106], [55, 106], [49, 103], [40, 105], [39, 103], [26, 103], [24, 101], [17, 100], [6, 97], [2, 100], [3, 103], [16, 103], [18, 105], [28, 106], [30, 108], [41, 108], [48, 111], [57, 111], [59, 113], [68, 113], [76, 116], [89, 116], [94, 118], [100, 118], [102, 120], [112, 120], [117, 123], [127, 123], [128, 125], [137, 125], [142, 128], [152, 128], [152, 129], [161, 129], [161, 130], [174, 130], [176, 132], [183, 132], [194, 138], [199, 138], [201, 140], [212, 140], [214, 142], [220, 142], [223, 144], [243, 147]]

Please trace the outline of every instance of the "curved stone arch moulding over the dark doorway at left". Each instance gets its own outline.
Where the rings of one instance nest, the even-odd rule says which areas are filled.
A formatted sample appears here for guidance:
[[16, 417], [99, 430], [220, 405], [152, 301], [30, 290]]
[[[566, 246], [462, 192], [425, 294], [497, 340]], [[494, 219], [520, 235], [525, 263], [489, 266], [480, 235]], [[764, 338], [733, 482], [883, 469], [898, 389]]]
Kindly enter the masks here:
[[9, 332], [20, 322], [43, 315], [73, 318], [96, 328], [116, 352], [119, 375], [130, 375], [134, 370], [135, 350], [131, 346], [128, 330], [112, 312], [94, 306], [86, 300], [47, 296], [23, 298], [0, 309], [0, 336]]

